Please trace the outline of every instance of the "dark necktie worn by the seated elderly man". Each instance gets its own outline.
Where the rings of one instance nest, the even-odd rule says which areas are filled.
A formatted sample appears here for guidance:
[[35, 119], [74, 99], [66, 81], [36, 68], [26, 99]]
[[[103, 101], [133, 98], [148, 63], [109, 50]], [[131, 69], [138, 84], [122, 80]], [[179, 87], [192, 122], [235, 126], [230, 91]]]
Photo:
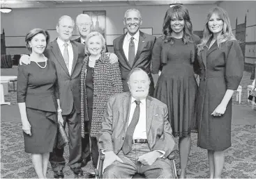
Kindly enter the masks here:
[[130, 152], [133, 145], [133, 133], [135, 130], [135, 127], [139, 121], [140, 118], [140, 101], [135, 100], [136, 108], [133, 113], [133, 119], [130, 121], [130, 125], [128, 126], [128, 129], [126, 131], [126, 139], [124, 139], [122, 151], [124, 155]]

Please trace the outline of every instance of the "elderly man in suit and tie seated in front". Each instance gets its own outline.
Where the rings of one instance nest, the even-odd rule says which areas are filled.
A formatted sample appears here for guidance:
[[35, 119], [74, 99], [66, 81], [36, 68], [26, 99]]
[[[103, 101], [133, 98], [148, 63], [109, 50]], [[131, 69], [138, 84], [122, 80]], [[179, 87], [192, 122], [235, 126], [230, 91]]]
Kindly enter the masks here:
[[172, 128], [167, 105], [148, 96], [150, 79], [140, 68], [130, 71], [130, 92], [111, 96], [98, 134], [98, 147], [105, 153], [103, 178], [174, 178]]

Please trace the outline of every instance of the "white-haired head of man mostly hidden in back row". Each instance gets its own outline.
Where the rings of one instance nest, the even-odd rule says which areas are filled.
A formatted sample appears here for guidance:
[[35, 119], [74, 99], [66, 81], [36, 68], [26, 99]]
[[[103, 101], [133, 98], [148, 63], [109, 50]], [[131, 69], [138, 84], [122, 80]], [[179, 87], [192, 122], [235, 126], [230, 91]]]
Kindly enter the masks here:
[[86, 36], [91, 32], [91, 17], [86, 14], [77, 15], [75, 24], [77, 25], [80, 36], [85, 40]]

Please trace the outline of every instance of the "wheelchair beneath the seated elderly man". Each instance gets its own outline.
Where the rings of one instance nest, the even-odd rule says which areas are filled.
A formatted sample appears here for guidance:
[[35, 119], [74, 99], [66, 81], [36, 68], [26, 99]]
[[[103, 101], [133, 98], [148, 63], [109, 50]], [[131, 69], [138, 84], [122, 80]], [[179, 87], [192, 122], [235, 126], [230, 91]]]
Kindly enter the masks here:
[[[99, 152], [99, 157], [98, 157], [98, 165], [97, 165], [97, 169], [95, 170], [95, 178], [103, 178], [103, 162], [105, 160], [105, 155], [101, 152]], [[176, 171], [176, 165], [175, 165], [175, 161], [174, 161], [174, 155], [172, 155], [172, 153], [168, 156], [168, 159], [172, 161], [172, 171], [174, 172], [173, 176], [174, 178], [177, 178], [177, 171]], [[135, 173], [135, 175], [133, 176], [133, 178], [145, 178], [145, 176], [141, 175], [140, 173]]]

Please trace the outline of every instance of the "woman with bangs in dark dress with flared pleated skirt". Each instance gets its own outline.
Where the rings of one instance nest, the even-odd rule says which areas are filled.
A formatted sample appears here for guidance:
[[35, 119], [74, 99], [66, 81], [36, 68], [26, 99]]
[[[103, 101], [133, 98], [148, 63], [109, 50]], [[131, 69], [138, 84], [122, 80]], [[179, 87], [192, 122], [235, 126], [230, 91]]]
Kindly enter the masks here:
[[[185, 178], [190, 153], [190, 133], [196, 131], [195, 43], [188, 10], [181, 5], [169, 8], [163, 23], [163, 37], [153, 46], [152, 73], [156, 89], [154, 97], [168, 107], [174, 137], [179, 137], [180, 178]], [[161, 69], [162, 68], [162, 69]], [[161, 70], [158, 78], [158, 71]]]

